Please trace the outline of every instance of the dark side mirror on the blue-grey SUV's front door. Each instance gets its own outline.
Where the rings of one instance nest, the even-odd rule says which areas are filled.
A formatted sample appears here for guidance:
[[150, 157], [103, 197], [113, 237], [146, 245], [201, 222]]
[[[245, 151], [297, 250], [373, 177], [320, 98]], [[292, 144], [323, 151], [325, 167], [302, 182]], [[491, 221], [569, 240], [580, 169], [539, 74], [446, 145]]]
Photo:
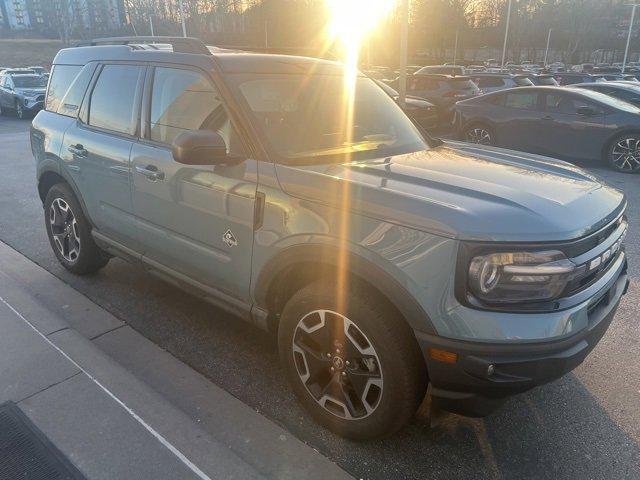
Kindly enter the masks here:
[[190, 130], [178, 135], [171, 145], [173, 159], [185, 165], [218, 165], [227, 160], [227, 146], [211, 130]]

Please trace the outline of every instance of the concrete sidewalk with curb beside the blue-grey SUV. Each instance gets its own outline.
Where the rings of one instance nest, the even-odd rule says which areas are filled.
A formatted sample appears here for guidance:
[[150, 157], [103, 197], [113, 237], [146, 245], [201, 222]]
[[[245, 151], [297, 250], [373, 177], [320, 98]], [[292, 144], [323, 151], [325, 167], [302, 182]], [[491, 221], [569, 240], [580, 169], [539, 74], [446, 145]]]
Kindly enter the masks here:
[[3, 243], [0, 332], [0, 404], [88, 479], [351, 478]]

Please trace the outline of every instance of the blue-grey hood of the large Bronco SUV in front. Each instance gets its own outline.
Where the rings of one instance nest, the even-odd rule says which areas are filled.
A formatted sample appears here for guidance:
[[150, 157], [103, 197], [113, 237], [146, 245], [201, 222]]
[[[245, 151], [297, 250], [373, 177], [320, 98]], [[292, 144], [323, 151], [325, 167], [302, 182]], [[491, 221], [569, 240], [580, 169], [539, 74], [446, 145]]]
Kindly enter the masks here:
[[290, 195], [450, 238], [564, 241], [606, 225], [624, 195], [547, 157], [448, 143], [344, 164], [277, 167]]

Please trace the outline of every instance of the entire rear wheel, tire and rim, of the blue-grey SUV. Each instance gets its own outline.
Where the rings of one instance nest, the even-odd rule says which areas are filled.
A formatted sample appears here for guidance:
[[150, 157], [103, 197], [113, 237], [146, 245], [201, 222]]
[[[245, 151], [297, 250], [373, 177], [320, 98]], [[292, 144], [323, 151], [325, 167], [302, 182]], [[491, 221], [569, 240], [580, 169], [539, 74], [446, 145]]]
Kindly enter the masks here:
[[109, 256], [94, 242], [91, 225], [67, 184], [57, 183], [49, 189], [44, 213], [49, 243], [64, 268], [84, 275], [109, 262]]

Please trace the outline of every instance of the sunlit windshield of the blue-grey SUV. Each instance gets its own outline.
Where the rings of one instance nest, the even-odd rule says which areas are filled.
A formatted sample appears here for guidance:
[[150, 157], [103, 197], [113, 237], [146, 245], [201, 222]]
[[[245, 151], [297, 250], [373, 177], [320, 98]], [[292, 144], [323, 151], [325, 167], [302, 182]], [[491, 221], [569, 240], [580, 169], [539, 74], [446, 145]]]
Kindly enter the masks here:
[[367, 160], [428, 148], [411, 120], [369, 78], [355, 80], [349, 115], [342, 76], [234, 77], [231, 83], [248, 104], [254, 122], [285, 161]]

